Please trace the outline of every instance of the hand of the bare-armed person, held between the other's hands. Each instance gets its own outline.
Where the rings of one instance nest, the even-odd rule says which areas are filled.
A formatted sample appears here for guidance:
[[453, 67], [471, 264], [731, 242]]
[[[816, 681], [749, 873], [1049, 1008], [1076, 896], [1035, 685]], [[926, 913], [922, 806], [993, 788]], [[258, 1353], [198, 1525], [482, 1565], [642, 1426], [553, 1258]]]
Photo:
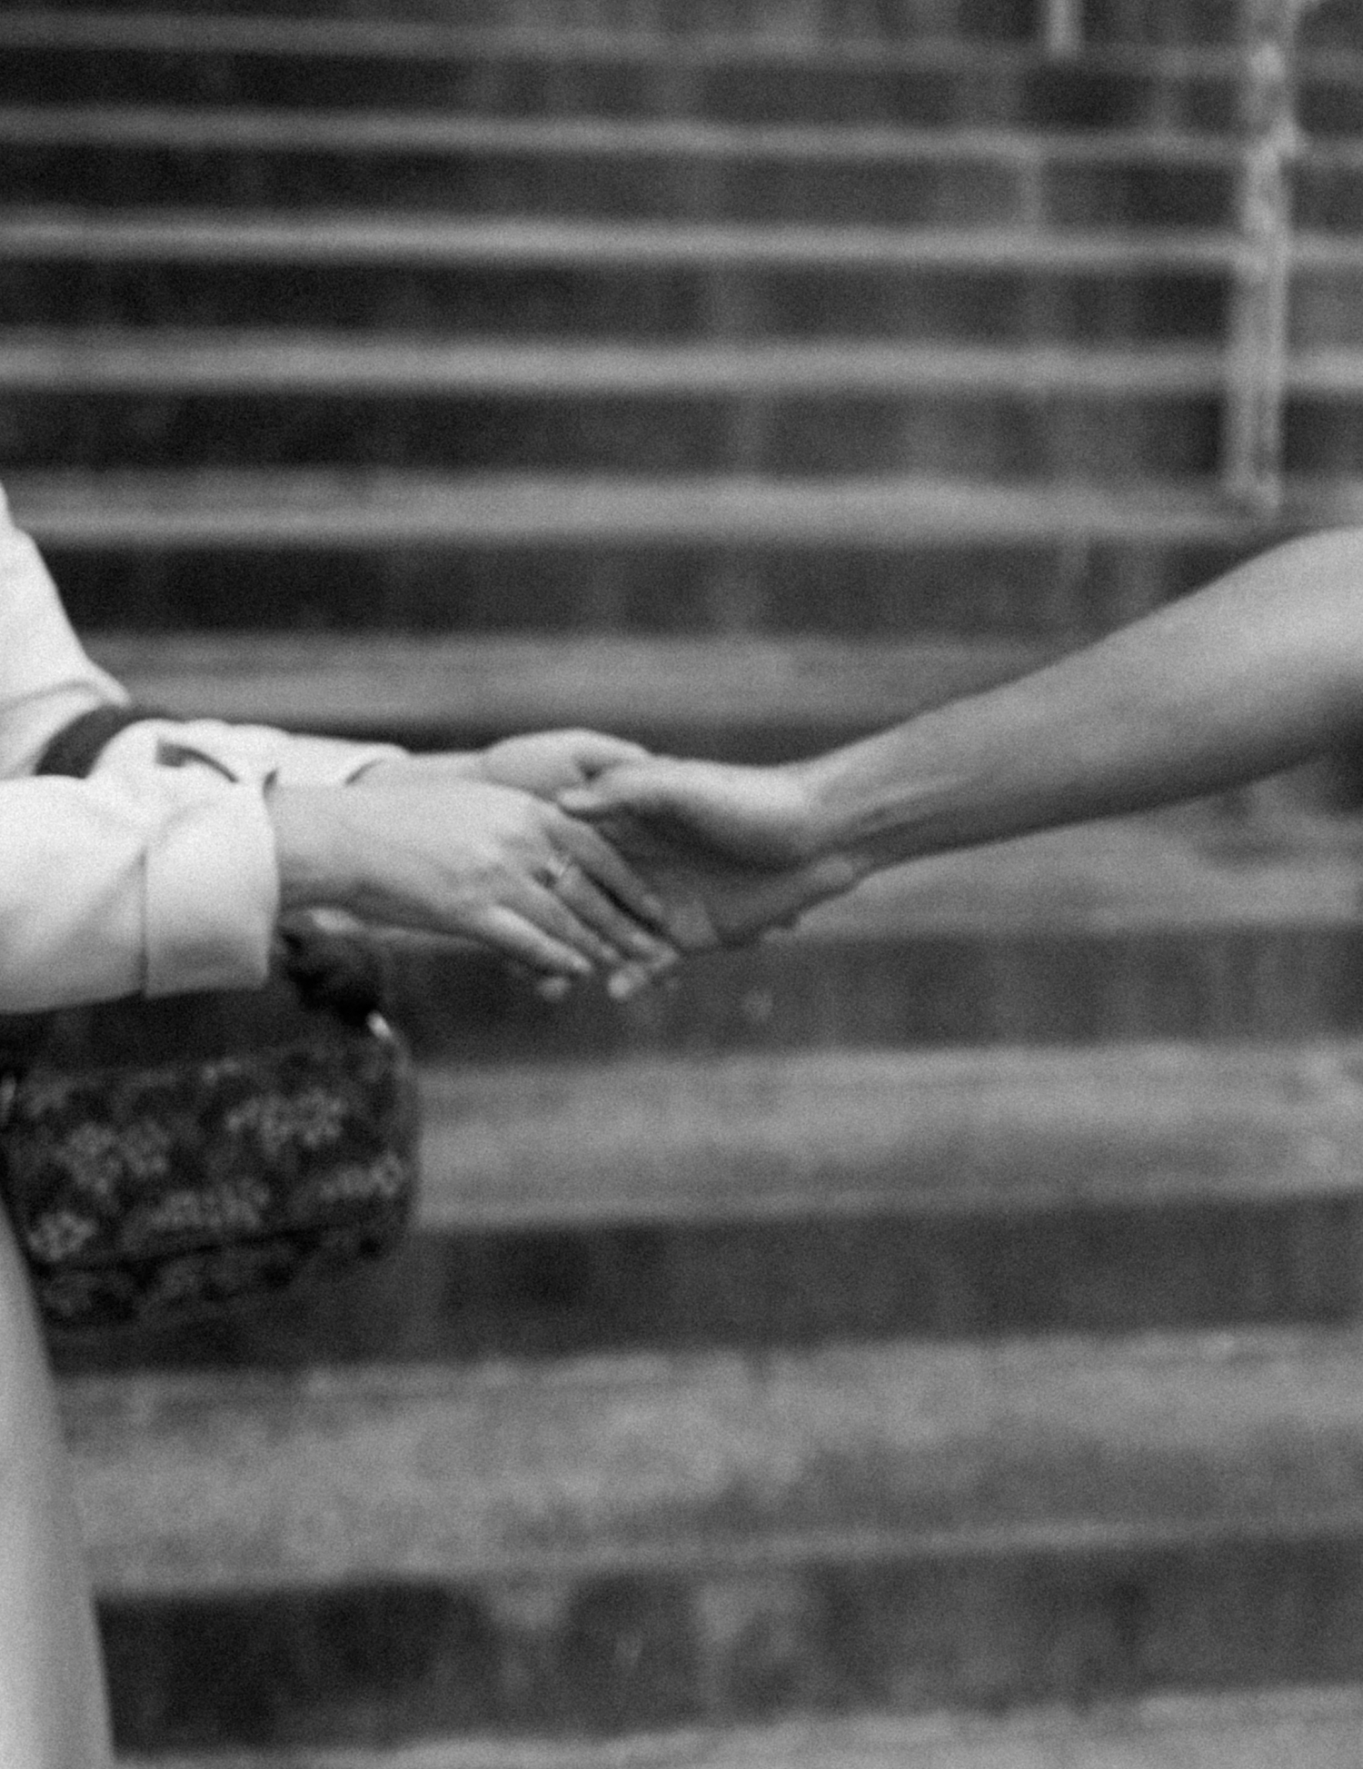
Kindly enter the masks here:
[[667, 904], [685, 952], [789, 925], [864, 867], [818, 854], [797, 770], [653, 757], [612, 768], [559, 805], [595, 823]]

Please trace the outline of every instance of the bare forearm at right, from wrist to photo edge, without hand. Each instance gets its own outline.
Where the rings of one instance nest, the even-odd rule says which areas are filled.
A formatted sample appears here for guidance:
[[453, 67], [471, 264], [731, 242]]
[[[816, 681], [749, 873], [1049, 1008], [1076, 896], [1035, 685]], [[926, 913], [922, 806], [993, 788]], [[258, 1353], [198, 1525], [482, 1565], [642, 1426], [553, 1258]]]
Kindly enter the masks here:
[[866, 865], [1142, 810], [1363, 724], [1363, 531], [1274, 548], [1002, 688], [802, 768], [812, 847]]

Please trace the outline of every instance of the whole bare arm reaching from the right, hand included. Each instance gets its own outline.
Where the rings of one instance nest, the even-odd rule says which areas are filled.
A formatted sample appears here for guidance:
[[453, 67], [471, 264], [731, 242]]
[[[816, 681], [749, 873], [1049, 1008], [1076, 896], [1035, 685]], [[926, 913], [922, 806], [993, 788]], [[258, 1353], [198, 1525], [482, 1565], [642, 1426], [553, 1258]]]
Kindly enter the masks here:
[[1361, 725], [1363, 531], [1349, 529], [862, 743], [784, 768], [627, 764], [559, 801], [635, 842], [697, 946], [878, 867], [1211, 793]]

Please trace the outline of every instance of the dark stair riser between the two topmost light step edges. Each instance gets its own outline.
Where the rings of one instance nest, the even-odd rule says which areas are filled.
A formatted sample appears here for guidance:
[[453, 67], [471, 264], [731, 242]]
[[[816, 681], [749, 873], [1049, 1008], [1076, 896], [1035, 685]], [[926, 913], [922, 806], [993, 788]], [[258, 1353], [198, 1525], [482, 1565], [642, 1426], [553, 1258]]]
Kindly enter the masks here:
[[[2, 39], [0, 39], [2, 41]], [[0, 103], [402, 108], [499, 117], [696, 117], [715, 122], [961, 124], [1034, 129], [1234, 131], [1230, 73], [1133, 71], [1041, 57], [745, 55], [508, 50], [269, 55], [5, 48]], [[1305, 76], [1303, 117], [1358, 127], [1363, 92]]]

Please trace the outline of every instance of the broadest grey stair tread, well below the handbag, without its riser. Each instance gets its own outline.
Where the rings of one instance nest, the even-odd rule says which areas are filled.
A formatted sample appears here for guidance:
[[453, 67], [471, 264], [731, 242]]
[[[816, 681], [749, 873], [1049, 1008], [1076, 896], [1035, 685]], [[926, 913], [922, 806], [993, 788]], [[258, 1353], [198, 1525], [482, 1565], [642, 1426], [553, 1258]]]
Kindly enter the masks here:
[[1358, 1329], [80, 1376], [104, 1592], [1363, 1532]]

